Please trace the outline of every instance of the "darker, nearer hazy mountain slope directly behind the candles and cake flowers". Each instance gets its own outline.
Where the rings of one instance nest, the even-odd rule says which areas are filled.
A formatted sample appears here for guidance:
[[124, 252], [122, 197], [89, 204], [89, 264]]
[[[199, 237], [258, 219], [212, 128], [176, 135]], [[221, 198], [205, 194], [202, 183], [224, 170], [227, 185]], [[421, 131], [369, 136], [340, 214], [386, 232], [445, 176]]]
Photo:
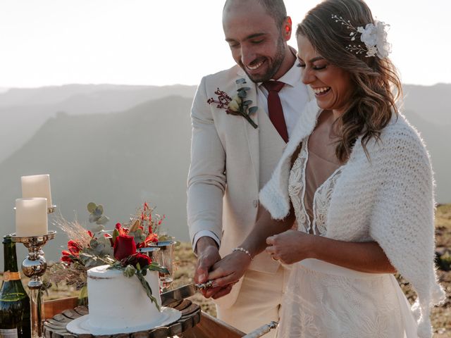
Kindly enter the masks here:
[[[21, 196], [20, 176], [49, 173], [52, 197], [68, 220], [75, 215], [87, 220], [86, 205], [94, 201], [104, 205], [113, 227], [128, 220], [142, 201], [149, 201], [158, 213], [166, 214], [168, 232], [187, 241], [191, 103], [170, 96], [122, 113], [60, 113], [50, 118], [0, 163], [2, 232], [8, 234], [15, 227], [13, 206]], [[66, 242], [59, 234], [47, 244], [47, 257], [57, 259], [58, 247]]]

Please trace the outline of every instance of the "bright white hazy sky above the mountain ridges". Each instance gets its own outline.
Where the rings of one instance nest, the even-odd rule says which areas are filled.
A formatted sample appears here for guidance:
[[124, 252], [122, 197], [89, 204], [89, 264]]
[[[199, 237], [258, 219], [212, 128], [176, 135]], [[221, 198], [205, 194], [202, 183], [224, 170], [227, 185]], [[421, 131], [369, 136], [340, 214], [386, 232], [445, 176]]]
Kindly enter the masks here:
[[[285, 0], [293, 23], [318, 3]], [[391, 26], [402, 82], [451, 82], [451, 0], [367, 3]], [[222, 7], [223, 0], [1, 0], [0, 87], [198, 84], [233, 65]]]

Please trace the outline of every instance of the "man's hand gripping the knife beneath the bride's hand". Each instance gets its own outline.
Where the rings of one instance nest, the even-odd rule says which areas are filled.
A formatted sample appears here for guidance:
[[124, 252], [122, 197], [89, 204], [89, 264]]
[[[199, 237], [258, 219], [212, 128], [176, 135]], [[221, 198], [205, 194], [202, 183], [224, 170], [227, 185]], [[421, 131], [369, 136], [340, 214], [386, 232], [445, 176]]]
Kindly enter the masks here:
[[[213, 265], [221, 261], [219, 250], [216, 242], [211, 237], [201, 237], [196, 244], [197, 265], [194, 273], [195, 283], [205, 283], [209, 280], [209, 270]], [[213, 297], [214, 299], [225, 296], [232, 289], [231, 285], [227, 287], [211, 287], [202, 290], [205, 298]]]

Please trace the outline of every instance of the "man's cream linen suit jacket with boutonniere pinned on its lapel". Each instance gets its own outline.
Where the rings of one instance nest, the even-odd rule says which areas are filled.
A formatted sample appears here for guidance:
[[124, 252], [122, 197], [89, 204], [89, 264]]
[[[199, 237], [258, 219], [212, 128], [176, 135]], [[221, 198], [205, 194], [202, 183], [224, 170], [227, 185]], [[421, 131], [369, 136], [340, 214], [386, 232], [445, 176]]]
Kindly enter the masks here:
[[[235, 65], [214, 75], [207, 75], [197, 88], [192, 104], [191, 165], [187, 180], [187, 223], [190, 237], [200, 230], [210, 230], [221, 239], [221, 257], [240, 245], [254, 227], [259, 207], [259, 130], [242, 116], [229, 115], [226, 108], [208, 104], [218, 99], [219, 89], [233, 97], [236, 80], [246, 80], [250, 106], [257, 101], [257, 85]], [[252, 119], [258, 125], [258, 113]], [[266, 253], [254, 258], [249, 269], [276, 273], [280, 263]], [[224, 303], [235, 302], [240, 283], [235, 284], [235, 296], [223, 297]], [[221, 300], [220, 300], [221, 301]], [[227, 304], [226, 304], [227, 305]], [[226, 306], [224, 305], [224, 306]]]

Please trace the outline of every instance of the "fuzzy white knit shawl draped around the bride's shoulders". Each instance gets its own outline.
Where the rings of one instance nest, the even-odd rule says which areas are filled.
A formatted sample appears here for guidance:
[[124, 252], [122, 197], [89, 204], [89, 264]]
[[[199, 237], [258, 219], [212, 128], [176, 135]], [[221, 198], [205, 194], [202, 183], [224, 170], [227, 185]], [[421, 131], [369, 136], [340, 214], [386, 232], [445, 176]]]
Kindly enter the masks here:
[[[314, 130], [321, 110], [311, 101], [299, 117], [271, 180], [259, 194], [274, 219], [290, 211], [288, 179], [291, 156]], [[366, 157], [361, 139], [335, 184], [327, 216], [326, 237], [347, 242], [372, 238], [390, 263], [414, 287], [412, 311], [421, 338], [432, 336], [431, 306], [445, 293], [437, 282], [434, 258], [433, 175], [419, 134], [402, 115], [393, 117], [379, 142], [371, 140]]]

